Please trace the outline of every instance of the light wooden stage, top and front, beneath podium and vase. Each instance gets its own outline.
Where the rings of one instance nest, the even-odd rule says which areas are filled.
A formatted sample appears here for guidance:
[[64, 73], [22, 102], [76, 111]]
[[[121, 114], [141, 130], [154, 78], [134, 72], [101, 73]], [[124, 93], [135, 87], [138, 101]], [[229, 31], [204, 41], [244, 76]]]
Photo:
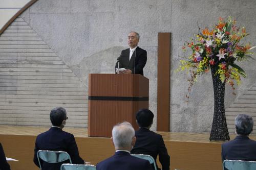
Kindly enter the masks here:
[[[49, 127], [0, 125], [0, 142], [3, 144], [6, 156], [19, 160], [9, 162], [12, 170], [39, 169], [33, 163], [35, 139], [39, 133], [48, 129]], [[66, 127], [63, 130], [74, 134], [79, 155], [87, 162], [97, 164], [115, 152], [110, 138], [89, 137], [86, 128]], [[163, 136], [170, 155], [170, 169], [222, 169], [223, 141], [210, 141], [209, 133], [158, 133]], [[235, 134], [230, 134], [230, 139], [234, 137]], [[250, 138], [256, 140], [256, 135], [250, 135]], [[158, 165], [160, 165], [159, 161]]]

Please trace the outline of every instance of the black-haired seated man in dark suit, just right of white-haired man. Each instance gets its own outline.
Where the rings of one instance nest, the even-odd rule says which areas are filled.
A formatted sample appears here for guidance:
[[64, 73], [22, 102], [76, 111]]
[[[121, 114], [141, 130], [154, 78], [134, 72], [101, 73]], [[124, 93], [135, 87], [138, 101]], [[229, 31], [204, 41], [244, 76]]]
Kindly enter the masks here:
[[163, 138], [161, 135], [150, 130], [153, 118], [154, 114], [148, 109], [141, 109], [136, 113], [136, 120], [140, 129], [135, 132], [137, 140], [131, 153], [151, 155], [155, 161], [158, 155], [162, 169], [168, 170], [170, 157], [165, 148]]

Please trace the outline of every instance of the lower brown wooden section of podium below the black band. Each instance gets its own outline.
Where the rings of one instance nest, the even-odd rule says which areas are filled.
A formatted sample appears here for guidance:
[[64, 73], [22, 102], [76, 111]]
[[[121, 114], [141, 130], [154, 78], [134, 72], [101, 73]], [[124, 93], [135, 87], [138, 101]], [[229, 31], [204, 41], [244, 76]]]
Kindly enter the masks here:
[[89, 101], [89, 136], [111, 137], [113, 126], [124, 121], [137, 130], [135, 113], [141, 108], [148, 108], [148, 101]]

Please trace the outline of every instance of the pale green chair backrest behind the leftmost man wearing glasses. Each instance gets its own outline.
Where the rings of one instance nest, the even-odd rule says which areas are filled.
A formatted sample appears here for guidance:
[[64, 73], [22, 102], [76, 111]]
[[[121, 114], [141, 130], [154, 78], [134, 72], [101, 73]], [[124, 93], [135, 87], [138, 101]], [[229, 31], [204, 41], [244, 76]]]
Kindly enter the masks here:
[[37, 159], [41, 169], [40, 159], [48, 163], [59, 163], [69, 160], [72, 163], [70, 155], [64, 151], [37, 151]]

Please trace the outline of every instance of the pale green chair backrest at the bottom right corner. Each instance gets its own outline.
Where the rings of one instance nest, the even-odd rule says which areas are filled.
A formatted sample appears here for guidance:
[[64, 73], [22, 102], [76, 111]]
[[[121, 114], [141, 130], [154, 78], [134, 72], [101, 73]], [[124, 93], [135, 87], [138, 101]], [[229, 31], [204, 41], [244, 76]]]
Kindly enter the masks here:
[[228, 170], [252, 170], [256, 169], [256, 161], [224, 160], [223, 169]]

